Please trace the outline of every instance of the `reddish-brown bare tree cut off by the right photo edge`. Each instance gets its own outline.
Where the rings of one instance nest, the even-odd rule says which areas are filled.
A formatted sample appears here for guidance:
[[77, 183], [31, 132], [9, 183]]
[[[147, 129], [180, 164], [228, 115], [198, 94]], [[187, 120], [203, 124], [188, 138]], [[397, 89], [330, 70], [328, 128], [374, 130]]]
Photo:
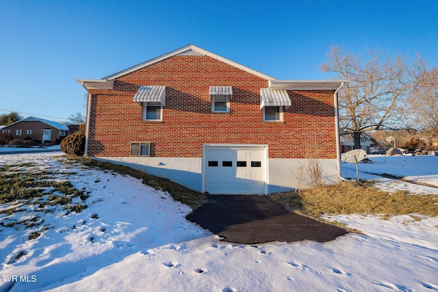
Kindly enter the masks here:
[[411, 94], [409, 105], [413, 120], [423, 133], [438, 135], [438, 68], [426, 72], [422, 82]]

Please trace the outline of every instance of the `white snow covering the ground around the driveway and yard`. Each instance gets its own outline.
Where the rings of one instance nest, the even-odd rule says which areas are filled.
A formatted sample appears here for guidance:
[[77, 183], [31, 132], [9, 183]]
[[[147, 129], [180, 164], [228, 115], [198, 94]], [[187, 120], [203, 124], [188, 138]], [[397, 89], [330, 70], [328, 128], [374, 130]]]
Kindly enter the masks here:
[[[79, 214], [41, 213], [49, 228], [37, 239], [28, 240], [31, 230], [0, 226], [0, 291], [438, 291], [438, 217], [326, 216], [365, 235], [227, 243], [185, 220], [190, 208], [168, 194], [136, 178], [67, 165], [56, 155], [0, 155], [0, 166], [37, 163], [91, 191]], [[438, 186], [438, 157], [372, 160], [359, 165], [361, 172]], [[355, 177], [354, 164], [343, 168], [344, 176]], [[433, 187], [361, 178], [378, 179], [389, 190], [437, 194]]]

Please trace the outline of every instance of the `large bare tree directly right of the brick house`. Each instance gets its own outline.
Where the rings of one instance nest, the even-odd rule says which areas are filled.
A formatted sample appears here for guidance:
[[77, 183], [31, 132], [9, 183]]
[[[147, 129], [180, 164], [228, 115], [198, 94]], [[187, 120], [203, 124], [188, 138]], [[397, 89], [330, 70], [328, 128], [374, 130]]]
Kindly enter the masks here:
[[387, 57], [378, 49], [367, 49], [363, 56], [333, 46], [320, 68], [350, 81], [339, 90], [339, 130], [352, 135], [355, 149], [361, 148], [364, 132], [409, 128], [407, 96], [425, 71], [420, 55], [407, 62], [400, 54]]

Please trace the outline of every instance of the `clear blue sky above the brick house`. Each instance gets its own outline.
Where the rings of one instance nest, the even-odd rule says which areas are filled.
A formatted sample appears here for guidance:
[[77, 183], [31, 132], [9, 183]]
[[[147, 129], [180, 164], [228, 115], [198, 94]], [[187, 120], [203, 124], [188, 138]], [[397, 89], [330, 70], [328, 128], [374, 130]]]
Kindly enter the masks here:
[[277, 79], [320, 72], [333, 44], [438, 67], [438, 1], [0, 0], [0, 114], [85, 114], [76, 79], [101, 79], [187, 44]]

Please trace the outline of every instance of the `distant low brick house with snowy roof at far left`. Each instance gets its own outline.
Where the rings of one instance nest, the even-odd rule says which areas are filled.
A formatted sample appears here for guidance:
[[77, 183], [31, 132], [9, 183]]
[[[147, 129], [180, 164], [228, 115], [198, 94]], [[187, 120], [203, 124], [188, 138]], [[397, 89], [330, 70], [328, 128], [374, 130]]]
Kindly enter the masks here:
[[11, 134], [15, 140], [34, 140], [42, 144], [57, 144], [68, 135], [68, 126], [29, 116], [1, 129], [2, 133]]

